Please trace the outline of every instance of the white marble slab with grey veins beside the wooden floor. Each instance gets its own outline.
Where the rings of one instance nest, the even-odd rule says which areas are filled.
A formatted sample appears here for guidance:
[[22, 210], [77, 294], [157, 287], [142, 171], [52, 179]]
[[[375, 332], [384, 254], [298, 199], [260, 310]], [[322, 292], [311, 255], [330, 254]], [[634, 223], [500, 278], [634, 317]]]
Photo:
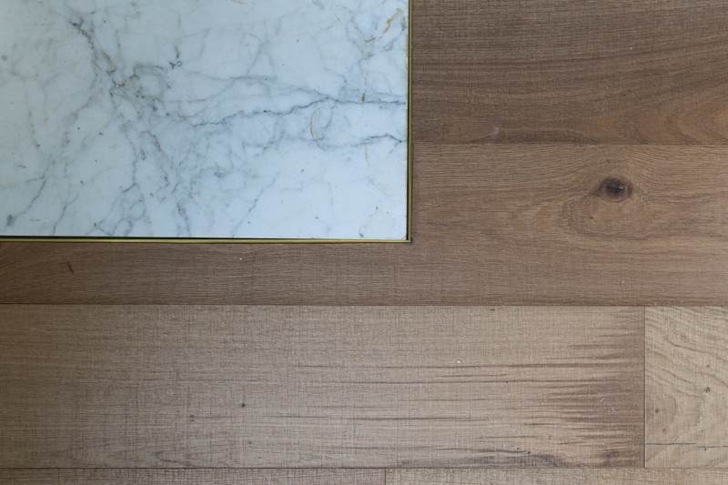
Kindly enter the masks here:
[[406, 236], [407, 0], [0, 6], [0, 237]]

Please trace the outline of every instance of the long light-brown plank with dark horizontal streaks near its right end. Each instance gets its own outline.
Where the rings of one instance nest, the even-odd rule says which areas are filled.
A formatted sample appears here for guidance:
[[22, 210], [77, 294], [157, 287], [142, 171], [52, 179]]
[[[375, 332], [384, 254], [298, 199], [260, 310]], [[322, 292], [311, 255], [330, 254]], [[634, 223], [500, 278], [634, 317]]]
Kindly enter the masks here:
[[642, 308], [0, 307], [0, 468], [638, 466]]

